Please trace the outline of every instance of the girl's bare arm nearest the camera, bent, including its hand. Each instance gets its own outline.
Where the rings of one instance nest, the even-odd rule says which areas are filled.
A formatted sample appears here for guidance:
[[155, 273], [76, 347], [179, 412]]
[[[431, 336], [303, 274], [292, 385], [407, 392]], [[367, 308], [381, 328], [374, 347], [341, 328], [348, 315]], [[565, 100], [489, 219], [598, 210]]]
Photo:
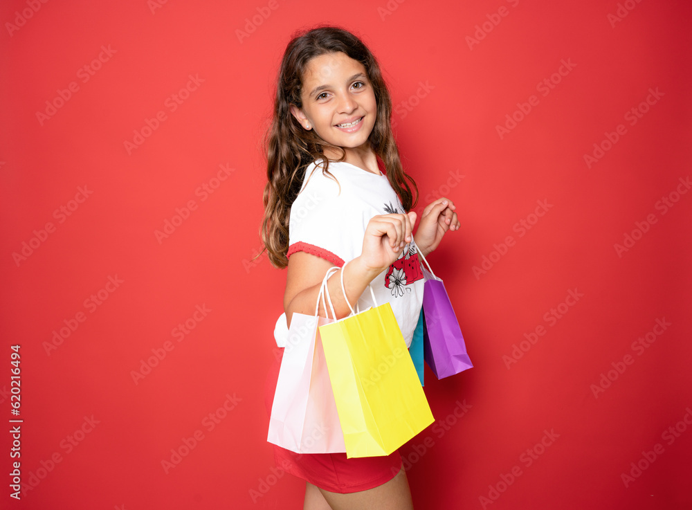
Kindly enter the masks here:
[[[346, 296], [352, 307], [374, 277], [388, 268], [399, 257], [403, 246], [411, 241], [412, 226], [415, 221], [416, 213], [409, 212], [408, 215], [379, 215], [368, 222], [361, 255], [347, 264], [344, 273]], [[284, 311], [289, 327], [293, 312], [305, 315], [315, 313], [320, 285], [331, 266], [333, 266], [331, 262], [310, 253], [301, 251], [291, 255], [284, 293]], [[341, 291], [341, 271], [344, 270], [339, 269], [327, 280], [327, 288], [337, 319], [350, 313]], [[327, 317], [321, 300], [318, 315]], [[331, 311], [329, 315], [331, 316]]]

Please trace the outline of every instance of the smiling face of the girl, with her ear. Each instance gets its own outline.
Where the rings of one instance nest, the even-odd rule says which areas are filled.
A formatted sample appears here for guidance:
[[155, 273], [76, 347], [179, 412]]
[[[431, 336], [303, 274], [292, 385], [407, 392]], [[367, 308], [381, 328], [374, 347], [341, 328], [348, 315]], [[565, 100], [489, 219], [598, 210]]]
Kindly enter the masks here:
[[343, 147], [347, 157], [349, 149], [369, 147], [377, 103], [363, 64], [342, 52], [314, 57], [302, 77], [301, 99], [302, 108], [291, 104], [291, 113], [304, 129]]

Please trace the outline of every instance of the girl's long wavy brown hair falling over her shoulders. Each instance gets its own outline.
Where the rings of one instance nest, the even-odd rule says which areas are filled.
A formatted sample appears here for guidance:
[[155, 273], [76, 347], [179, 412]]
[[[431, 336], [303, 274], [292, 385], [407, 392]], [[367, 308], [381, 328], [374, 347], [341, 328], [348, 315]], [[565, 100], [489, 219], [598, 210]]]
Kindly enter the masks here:
[[[288, 265], [286, 253], [289, 249], [291, 205], [300, 192], [306, 167], [322, 158], [325, 162], [322, 172], [334, 179], [329, 173], [329, 158], [325, 157], [325, 147], [341, 150], [343, 155], [336, 161], [343, 161], [346, 156], [343, 149], [325, 142], [314, 130], [303, 129], [290, 111], [291, 104], [302, 108], [302, 76], [309, 61], [319, 55], [336, 52], [345, 53], [365, 67], [377, 102], [377, 118], [368, 138], [370, 147], [383, 163], [387, 178], [399, 195], [404, 209], [409, 211], [418, 201], [417, 185], [401, 167], [399, 149], [392, 134], [392, 99], [374, 55], [361, 39], [343, 28], [318, 26], [300, 31], [293, 35], [282, 58], [273, 118], [262, 147], [266, 154], [267, 183], [264, 187], [264, 217], [260, 228], [264, 248], [257, 257], [266, 250], [271, 264], [277, 268]], [[407, 179], [411, 185], [406, 182]]]

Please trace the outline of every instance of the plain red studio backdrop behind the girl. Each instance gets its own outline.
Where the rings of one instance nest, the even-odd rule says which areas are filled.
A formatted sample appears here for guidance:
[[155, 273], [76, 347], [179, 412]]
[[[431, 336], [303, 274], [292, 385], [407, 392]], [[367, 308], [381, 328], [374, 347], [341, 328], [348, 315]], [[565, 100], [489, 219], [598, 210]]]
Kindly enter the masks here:
[[[293, 30], [330, 22], [361, 35], [383, 66], [418, 208], [445, 194], [462, 221], [430, 263], [475, 367], [442, 381], [426, 373], [435, 418], [454, 423], [401, 450], [417, 509], [689, 508], [692, 194], [674, 192], [690, 174], [691, 8], [624, 4], [3, 2], [0, 401], [8, 419], [9, 345], [21, 345], [21, 472], [39, 482], [18, 503], [3, 475], [2, 507], [300, 507], [304, 484], [272, 474], [262, 398], [285, 273], [266, 256], [250, 260], [278, 62]], [[492, 30], [470, 47], [484, 23]], [[102, 45], [116, 53], [83, 82], [78, 71]], [[537, 84], [562, 60], [574, 68], [543, 95]], [[171, 111], [166, 100], [188, 75], [204, 81]], [[79, 89], [39, 122], [71, 82]], [[630, 125], [650, 88], [662, 95]], [[531, 95], [531, 111], [500, 137]], [[124, 142], [158, 111], [166, 120], [128, 154]], [[626, 134], [588, 165], [584, 155], [618, 125]], [[219, 165], [234, 170], [202, 200], [196, 190]], [[91, 194], [71, 203], [80, 186]], [[663, 197], [679, 199], [665, 214]], [[159, 242], [155, 230], [192, 200], [196, 210]], [[520, 237], [513, 226], [534, 221], [543, 200], [552, 207]], [[78, 207], [54, 215], [61, 206]], [[618, 254], [614, 244], [647, 217]], [[42, 234], [48, 222], [55, 230]], [[17, 258], [33, 230], [46, 239]], [[508, 236], [514, 246], [492, 255]], [[475, 275], [491, 255], [497, 262]], [[122, 283], [87, 307], [109, 276]], [[547, 322], [570, 289], [583, 296]], [[197, 305], [210, 311], [179, 342], [172, 330]], [[78, 312], [86, 320], [48, 354], [53, 331]], [[657, 319], [671, 325], [635, 349]], [[503, 356], [538, 326], [545, 335], [508, 367]], [[165, 345], [174, 348], [135, 383], [132, 372]], [[632, 363], [619, 364], [626, 355]], [[610, 386], [594, 386], [609, 371]], [[203, 420], [226, 394], [237, 404], [209, 430]], [[458, 421], [457, 401], [471, 406]], [[676, 424], [679, 437], [666, 435]], [[69, 446], [82, 426], [90, 431]], [[162, 460], [196, 430], [203, 439], [165, 473]], [[559, 437], [529, 466], [544, 430]], [[10, 439], [0, 433], [2, 473]], [[622, 473], [657, 444], [663, 453], [626, 486]], [[48, 469], [54, 453], [61, 460]], [[513, 468], [521, 474], [502, 486]]]

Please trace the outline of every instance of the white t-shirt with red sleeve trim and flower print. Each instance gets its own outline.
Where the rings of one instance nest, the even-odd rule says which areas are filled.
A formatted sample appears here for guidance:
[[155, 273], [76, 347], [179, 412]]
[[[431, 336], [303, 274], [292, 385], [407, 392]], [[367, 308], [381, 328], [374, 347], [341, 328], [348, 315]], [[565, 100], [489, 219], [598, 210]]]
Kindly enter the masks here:
[[[403, 214], [405, 210], [384, 174], [372, 174], [351, 163], [337, 161], [329, 162], [329, 173], [338, 184], [321, 167], [316, 167], [316, 162], [307, 167], [300, 193], [291, 206], [287, 255], [305, 251], [340, 267], [361, 255], [365, 228], [372, 217]], [[370, 285], [377, 304], [391, 304], [401, 334], [407, 347], [410, 346], [423, 304], [424, 287], [415, 242], [405, 246], [399, 259]], [[367, 289], [358, 306], [361, 311], [373, 306]], [[285, 313], [277, 320], [274, 336], [279, 347], [286, 345]]]

